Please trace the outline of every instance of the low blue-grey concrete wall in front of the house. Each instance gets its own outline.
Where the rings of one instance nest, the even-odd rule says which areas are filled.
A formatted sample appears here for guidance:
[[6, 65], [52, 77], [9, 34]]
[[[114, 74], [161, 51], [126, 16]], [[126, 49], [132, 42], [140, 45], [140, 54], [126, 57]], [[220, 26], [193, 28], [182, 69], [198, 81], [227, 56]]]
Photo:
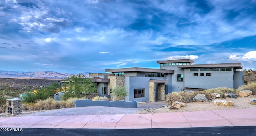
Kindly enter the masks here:
[[122, 107], [122, 108], [137, 108], [137, 101], [109, 101], [100, 100], [92, 101], [92, 99], [76, 100], [75, 107], [87, 107], [87, 106], [105, 106], [105, 107]]

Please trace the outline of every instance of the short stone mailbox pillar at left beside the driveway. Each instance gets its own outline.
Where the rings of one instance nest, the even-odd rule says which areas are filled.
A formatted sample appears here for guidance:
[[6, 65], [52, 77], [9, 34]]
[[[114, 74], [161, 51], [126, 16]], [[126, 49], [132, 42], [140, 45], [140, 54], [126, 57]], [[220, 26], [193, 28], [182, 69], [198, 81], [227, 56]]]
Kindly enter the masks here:
[[22, 114], [22, 100], [19, 98], [6, 99], [6, 115], [15, 116]]

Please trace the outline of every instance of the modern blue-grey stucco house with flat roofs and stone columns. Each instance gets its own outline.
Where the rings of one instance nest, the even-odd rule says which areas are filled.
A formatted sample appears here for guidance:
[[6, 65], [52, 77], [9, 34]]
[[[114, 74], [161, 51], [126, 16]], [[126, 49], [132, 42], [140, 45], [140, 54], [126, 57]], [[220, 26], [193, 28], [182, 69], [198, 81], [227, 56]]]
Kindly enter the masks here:
[[241, 63], [193, 64], [191, 59], [157, 61], [160, 69], [106, 69], [111, 74], [90, 73], [100, 95], [111, 95], [112, 89], [125, 86], [129, 92], [125, 101], [165, 100], [178, 91], [200, 91], [217, 87], [238, 88], [243, 85]]

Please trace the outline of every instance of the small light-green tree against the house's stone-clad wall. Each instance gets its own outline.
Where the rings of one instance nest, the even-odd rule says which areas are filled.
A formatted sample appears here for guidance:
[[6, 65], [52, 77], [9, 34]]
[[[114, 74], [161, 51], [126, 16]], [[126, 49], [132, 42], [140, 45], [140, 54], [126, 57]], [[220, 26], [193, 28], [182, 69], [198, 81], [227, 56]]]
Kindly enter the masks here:
[[128, 95], [128, 91], [125, 90], [124, 86], [118, 86], [112, 90], [112, 101], [124, 100]]

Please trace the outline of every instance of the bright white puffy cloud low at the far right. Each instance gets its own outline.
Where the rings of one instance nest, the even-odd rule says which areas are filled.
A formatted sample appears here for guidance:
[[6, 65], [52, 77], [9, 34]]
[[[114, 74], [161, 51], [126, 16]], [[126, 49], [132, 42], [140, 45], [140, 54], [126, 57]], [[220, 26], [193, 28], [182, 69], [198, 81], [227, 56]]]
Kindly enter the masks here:
[[243, 56], [230, 55], [229, 59], [236, 61], [256, 61], [256, 51], [249, 51]]

